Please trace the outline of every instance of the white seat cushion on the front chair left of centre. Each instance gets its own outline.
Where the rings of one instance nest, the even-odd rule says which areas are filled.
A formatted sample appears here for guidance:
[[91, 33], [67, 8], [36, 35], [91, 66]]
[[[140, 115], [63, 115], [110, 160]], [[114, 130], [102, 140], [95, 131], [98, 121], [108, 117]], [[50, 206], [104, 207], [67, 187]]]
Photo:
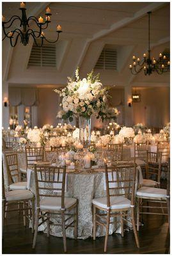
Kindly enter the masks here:
[[[68, 209], [77, 202], [75, 198], [65, 197], [65, 209]], [[41, 210], [52, 210], [59, 211], [61, 210], [61, 197], [45, 197], [40, 200], [40, 209]]]

